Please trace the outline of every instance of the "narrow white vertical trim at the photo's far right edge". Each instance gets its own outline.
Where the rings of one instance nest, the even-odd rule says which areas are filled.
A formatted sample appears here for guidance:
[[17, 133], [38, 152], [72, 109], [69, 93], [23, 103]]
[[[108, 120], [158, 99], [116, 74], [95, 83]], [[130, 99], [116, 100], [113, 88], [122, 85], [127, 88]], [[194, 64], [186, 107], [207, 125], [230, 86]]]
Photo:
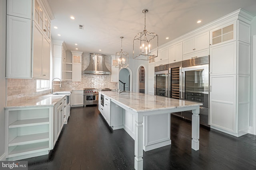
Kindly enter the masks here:
[[256, 35], [252, 41], [252, 134], [256, 135]]

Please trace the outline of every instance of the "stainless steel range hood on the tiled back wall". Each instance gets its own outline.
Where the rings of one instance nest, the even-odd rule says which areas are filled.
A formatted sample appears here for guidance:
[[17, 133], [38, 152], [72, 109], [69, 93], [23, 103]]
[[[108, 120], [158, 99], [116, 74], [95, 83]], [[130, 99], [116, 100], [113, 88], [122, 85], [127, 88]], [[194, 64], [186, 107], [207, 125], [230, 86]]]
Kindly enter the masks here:
[[110, 70], [105, 65], [105, 55], [90, 53], [90, 63], [84, 70], [84, 74], [110, 74]]

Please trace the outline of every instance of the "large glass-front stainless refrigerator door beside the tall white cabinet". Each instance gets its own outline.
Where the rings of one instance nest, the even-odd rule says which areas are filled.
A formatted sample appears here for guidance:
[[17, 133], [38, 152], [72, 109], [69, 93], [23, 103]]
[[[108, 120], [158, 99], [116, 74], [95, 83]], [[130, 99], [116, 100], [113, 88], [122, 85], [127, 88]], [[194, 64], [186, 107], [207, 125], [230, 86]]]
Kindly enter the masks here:
[[199, 102], [208, 108], [209, 64], [182, 68], [181, 76], [181, 99]]

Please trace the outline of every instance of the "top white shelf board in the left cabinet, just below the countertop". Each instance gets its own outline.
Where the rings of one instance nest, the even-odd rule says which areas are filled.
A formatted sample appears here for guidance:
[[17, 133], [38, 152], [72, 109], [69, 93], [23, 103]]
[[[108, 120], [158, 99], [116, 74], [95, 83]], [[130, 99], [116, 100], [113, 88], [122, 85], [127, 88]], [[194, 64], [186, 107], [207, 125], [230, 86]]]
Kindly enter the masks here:
[[49, 118], [40, 118], [40, 119], [24, 119], [17, 120], [14, 123], [9, 125], [9, 128], [15, 127], [26, 127], [26, 126], [35, 126], [35, 125], [46, 125], [49, 124]]

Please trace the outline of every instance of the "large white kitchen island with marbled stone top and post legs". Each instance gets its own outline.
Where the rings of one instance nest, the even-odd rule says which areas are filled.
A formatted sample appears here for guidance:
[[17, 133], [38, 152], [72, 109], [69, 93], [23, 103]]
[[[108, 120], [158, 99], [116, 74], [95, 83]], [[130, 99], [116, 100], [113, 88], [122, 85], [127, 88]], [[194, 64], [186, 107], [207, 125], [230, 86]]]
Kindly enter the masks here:
[[[143, 169], [143, 150], [171, 144], [170, 113], [173, 112], [192, 110], [191, 147], [199, 150], [199, 106], [202, 104], [134, 92], [100, 92], [99, 97], [101, 94], [110, 104], [106, 105], [110, 113], [108, 124], [112, 129], [124, 128], [134, 139], [136, 170]], [[99, 102], [101, 112], [105, 109], [104, 104]]]

